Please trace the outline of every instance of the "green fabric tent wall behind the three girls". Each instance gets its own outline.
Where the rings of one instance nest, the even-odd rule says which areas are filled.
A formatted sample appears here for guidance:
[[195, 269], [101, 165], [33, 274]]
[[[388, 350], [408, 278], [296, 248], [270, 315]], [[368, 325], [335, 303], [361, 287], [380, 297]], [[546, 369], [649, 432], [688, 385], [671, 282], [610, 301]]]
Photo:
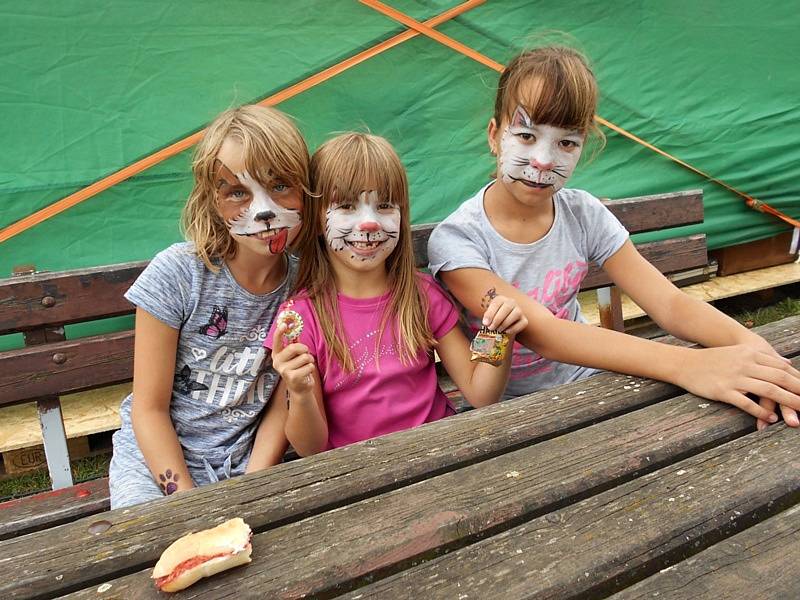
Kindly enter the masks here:
[[[424, 20], [456, 0], [387, 0]], [[405, 30], [354, 0], [4, 3], [0, 228]], [[800, 17], [791, 3], [489, 0], [440, 26], [499, 62], [565, 32], [594, 63], [598, 113], [794, 217]], [[487, 181], [497, 73], [417, 36], [279, 105], [311, 149], [368, 128], [395, 144], [417, 223]], [[150, 258], [180, 238], [190, 152], [0, 244], [0, 276]], [[573, 187], [620, 198], [703, 188], [709, 245], [786, 226], [608, 132]]]

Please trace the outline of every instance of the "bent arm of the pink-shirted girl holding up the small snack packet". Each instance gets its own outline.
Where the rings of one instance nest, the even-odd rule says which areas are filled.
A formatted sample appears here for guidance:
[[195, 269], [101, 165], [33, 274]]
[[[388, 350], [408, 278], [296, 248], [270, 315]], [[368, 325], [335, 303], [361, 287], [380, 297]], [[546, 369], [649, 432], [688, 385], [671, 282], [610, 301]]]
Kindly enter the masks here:
[[508, 382], [514, 336], [528, 326], [528, 320], [516, 301], [494, 296], [483, 314], [483, 325], [508, 335], [505, 360], [498, 366], [470, 360], [469, 341], [458, 327], [448, 331], [436, 346], [436, 352], [453, 383], [475, 408], [497, 402]]

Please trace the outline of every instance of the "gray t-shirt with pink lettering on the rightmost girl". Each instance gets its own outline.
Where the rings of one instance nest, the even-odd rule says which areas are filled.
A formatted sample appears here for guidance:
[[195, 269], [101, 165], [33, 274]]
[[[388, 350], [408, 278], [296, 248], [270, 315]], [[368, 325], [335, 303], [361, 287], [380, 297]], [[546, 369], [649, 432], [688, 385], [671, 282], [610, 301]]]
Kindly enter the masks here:
[[[491, 185], [491, 183], [489, 184]], [[583, 190], [561, 189], [554, 196], [555, 219], [544, 237], [517, 244], [492, 227], [483, 207], [487, 185], [442, 221], [428, 240], [433, 275], [440, 271], [487, 269], [537, 300], [560, 319], [585, 322], [578, 304], [589, 263], [600, 266], [619, 250], [628, 232], [603, 204]], [[469, 315], [474, 331], [480, 323]], [[505, 397], [575, 381], [593, 369], [547, 360], [514, 344]]]

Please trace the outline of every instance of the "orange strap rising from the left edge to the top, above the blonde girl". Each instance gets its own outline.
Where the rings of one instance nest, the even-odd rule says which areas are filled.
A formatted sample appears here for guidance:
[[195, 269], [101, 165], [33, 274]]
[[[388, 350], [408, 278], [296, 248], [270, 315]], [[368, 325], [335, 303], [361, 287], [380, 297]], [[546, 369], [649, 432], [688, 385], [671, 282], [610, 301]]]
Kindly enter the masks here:
[[[428, 21], [425, 21], [424, 25], [421, 23], [419, 25], [426, 28], [436, 27], [438, 25], [441, 25], [445, 21], [449, 21], [450, 19], [453, 19], [454, 17], [457, 17], [458, 15], [463, 14], [468, 10], [471, 10], [476, 6], [483, 4], [485, 1], [486, 0], [468, 0], [467, 2], [459, 4], [458, 6], [454, 6], [450, 10], [447, 10], [442, 14], [437, 15], [432, 19], [429, 19]], [[417, 35], [419, 35], [419, 33], [417, 33], [417, 31], [414, 31], [413, 29], [409, 31], [404, 31], [403, 33], [400, 33], [384, 42], [381, 42], [380, 44], [376, 44], [375, 46], [372, 46], [371, 48], [368, 48], [363, 52], [359, 52], [358, 54], [351, 56], [350, 58], [347, 58], [338, 64], [333, 65], [332, 67], [329, 67], [292, 86], [289, 86], [265, 98], [264, 100], [261, 100], [258, 104], [262, 106], [274, 106], [280, 102], [283, 102], [284, 100], [288, 100], [289, 98], [292, 98], [293, 96], [296, 96], [306, 90], [309, 90], [312, 87], [319, 85], [320, 83], [327, 81], [328, 79], [331, 79], [332, 77], [338, 75], [339, 73], [342, 73], [343, 71], [346, 71], [347, 69], [354, 67], [359, 63], [362, 63], [365, 60], [380, 54], [381, 52], [385, 52], [389, 48], [393, 48], [398, 44], [410, 40], [411, 38], [416, 37]], [[0, 230], [0, 243], [3, 243], [6, 240], [11, 239], [15, 235], [19, 235], [23, 231], [26, 231], [31, 227], [34, 227], [42, 223], [43, 221], [46, 221], [50, 217], [53, 217], [59, 213], [64, 212], [68, 208], [71, 208], [76, 204], [79, 204], [84, 200], [87, 200], [92, 196], [95, 196], [100, 192], [107, 190], [108, 188], [122, 181], [125, 181], [126, 179], [133, 177], [134, 175], [137, 175], [146, 169], [149, 169], [153, 165], [156, 165], [172, 156], [175, 156], [180, 152], [183, 152], [187, 148], [190, 148], [194, 144], [199, 142], [200, 139], [202, 139], [204, 133], [205, 129], [201, 129], [200, 131], [197, 131], [183, 138], [182, 140], [170, 144], [165, 148], [161, 148], [157, 152], [154, 152], [153, 154], [146, 156], [145, 158], [138, 160], [135, 163], [123, 167], [119, 171], [116, 171], [111, 175], [108, 175], [103, 179], [100, 179], [99, 181], [96, 181], [91, 185], [83, 189], [80, 189], [77, 192], [70, 194], [69, 196], [62, 198], [61, 200], [54, 202], [53, 204], [50, 204], [49, 206], [46, 206], [36, 211], [35, 213], [30, 214], [27, 217], [20, 219], [15, 223], [12, 223], [8, 227], [5, 227], [4, 229]]]

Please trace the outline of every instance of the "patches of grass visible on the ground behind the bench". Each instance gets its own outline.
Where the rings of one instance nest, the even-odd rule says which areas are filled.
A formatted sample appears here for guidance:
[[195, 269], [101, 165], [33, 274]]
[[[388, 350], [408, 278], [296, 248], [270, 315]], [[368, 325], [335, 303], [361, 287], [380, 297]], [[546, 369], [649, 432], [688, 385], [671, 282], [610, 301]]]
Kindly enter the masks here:
[[[716, 303], [745, 327], [758, 327], [773, 321], [800, 315], [800, 285], [748, 294]], [[98, 454], [72, 461], [72, 478], [78, 483], [108, 475], [110, 454]], [[0, 501], [50, 489], [47, 471], [35, 471], [0, 480]]]

